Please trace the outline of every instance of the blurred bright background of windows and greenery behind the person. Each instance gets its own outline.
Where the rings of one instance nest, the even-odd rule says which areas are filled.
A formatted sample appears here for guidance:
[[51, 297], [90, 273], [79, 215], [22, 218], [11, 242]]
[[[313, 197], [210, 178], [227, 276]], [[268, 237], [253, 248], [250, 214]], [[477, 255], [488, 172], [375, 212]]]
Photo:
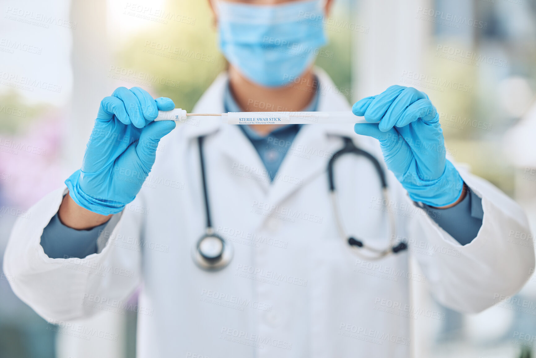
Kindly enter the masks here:
[[[140, 86], [189, 111], [226, 63], [207, 0], [0, 4], [1, 260], [17, 217], [78, 169], [103, 97]], [[536, 0], [336, 0], [325, 25], [333, 56], [316, 64], [337, 84], [326, 90], [350, 103], [392, 84], [426, 92], [452, 159], [522, 204], [534, 232]], [[36, 315], [12, 293], [14, 279], [0, 271], [1, 357], [135, 356], [135, 312], [88, 320], [118, 340], [86, 340]], [[439, 313], [414, 319], [415, 357], [536, 351], [534, 276], [478, 315], [414, 294]]]

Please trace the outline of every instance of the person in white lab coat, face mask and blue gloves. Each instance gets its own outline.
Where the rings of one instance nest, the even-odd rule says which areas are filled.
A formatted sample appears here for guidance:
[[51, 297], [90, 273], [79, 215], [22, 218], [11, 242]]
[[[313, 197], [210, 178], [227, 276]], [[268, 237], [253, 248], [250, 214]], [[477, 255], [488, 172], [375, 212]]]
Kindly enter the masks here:
[[[529, 232], [525, 214], [445, 159], [426, 94], [393, 86], [349, 107], [307, 52], [325, 43], [331, 1], [258, 3], [214, 5], [229, 68], [193, 112], [353, 110], [370, 123], [174, 129], [153, 121], [170, 99], [121, 87], [101, 103], [81, 170], [14, 226], [14, 293], [62, 323], [123, 308], [139, 289], [138, 356], [211, 358], [408, 357], [413, 319], [437, 318], [412, 304], [412, 286], [460, 312], [515, 294], [534, 267], [509, 240]], [[213, 272], [191, 255], [206, 230], [200, 136], [212, 227], [234, 248]], [[395, 235], [407, 251], [367, 260], [339, 234], [326, 166], [341, 136], [380, 161], [390, 197], [369, 160], [341, 158], [345, 229], [373, 247]]]

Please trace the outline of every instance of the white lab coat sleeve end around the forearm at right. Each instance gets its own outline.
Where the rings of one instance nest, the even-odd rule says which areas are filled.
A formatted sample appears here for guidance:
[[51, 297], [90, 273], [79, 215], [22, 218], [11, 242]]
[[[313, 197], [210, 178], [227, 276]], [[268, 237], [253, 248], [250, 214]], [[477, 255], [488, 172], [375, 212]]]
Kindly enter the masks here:
[[422, 238], [423, 250], [430, 251], [414, 257], [438, 301], [455, 310], [479, 312], [498, 303], [497, 297], [513, 295], [523, 287], [534, 269], [534, 249], [532, 243], [513, 240], [517, 232], [530, 236], [523, 209], [486, 180], [461, 170], [460, 174], [482, 199], [477, 236], [461, 245], [423, 213], [414, 222], [417, 227], [409, 241], [411, 246]]

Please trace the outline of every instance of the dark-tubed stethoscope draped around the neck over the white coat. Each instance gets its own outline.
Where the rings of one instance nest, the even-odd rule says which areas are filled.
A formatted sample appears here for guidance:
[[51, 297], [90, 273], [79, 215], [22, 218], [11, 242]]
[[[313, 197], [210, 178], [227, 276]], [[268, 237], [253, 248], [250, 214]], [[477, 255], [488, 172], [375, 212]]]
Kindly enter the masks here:
[[[394, 241], [394, 237], [396, 237], [394, 235], [394, 233], [396, 232], [396, 220], [394, 219], [394, 215], [393, 213], [391, 213], [391, 211], [389, 211], [388, 213], [391, 239], [389, 241], [389, 246], [385, 247], [385, 249], [376, 249], [375, 247], [365, 245], [363, 240], [347, 235], [346, 231], [344, 230], [344, 226], [339, 214], [339, 206], [333, 175], [333, 166], [341, 156], [345, 154], [354, 154], [369, 159], [370, 162], [373, 163], [376, 172], [378, 173], [378, 176], [381, 180], [383, 199], [387, 202], [389, 202], [389, 194], [387, 181], [385, 180], [385, 172], [382, 169], [382, 166], [379, 164], [378, 160], [369, 152], [356, 147], [351, 138], [345, 136], [341, 136], [341, 138], [344, 141], [344, 147], [335, 152], [327, 163], [329, 192], [339, 235], [346, 239], [346, 242], [350, 247], [352, 247], [352, 249], [354, 249], [353, 251], [356, 254], [368, 260], [381, 259], [390, 254], [399, 253], [401, 251], [406, 250], [407, 244], [405, 242], [400, 242], [397, 244]], [[200, 237], [195, 243], [195, 245], [192, 247], [192, 259], [197, 266], [206, 271], [218, 271], [227, 266], [229, 262], [233, 259], [233, 246], [228, 243], [227, 240], [215, 233], [214, 228], [212, 227], [209, 196], [207, 194], [206, 188], [207, 185], [205, 174], [205, 159], [203, 155], [203, 140], [204, 136], [199, 136], [197, 138], [197, 142], [199, 145], [199, 162], [201, 167], [201, 177], [203, 182], [203, 196], [205, 201], [206, 229], [205, 235]]]

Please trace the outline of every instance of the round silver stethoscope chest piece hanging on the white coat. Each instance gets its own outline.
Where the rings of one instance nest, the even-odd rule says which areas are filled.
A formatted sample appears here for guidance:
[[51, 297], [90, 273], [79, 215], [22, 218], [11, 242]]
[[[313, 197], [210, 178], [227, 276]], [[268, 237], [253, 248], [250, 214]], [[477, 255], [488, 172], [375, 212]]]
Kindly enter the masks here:
[[192, 259], [202, 269], [218, 271], [233, 259], [233, 246], [213, 230], [207, 230], [206, 235], [192, 247]]

